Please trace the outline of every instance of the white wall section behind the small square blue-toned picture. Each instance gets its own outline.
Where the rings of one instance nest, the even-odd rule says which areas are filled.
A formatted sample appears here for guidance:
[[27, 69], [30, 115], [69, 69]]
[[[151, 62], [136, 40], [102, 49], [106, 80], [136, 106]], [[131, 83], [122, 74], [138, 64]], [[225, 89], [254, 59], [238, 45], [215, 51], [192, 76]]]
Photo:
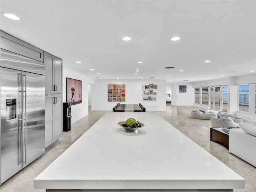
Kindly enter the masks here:
[[[187, 92], [180, 93], [179, 86], [186, 85]], [[176, 96], [176, 98], [175, 98]], [[172, 105], [174, 106], [192, 106], [194, 105], [194, 88], [192, 83], [174, 83], [172, 85]]]

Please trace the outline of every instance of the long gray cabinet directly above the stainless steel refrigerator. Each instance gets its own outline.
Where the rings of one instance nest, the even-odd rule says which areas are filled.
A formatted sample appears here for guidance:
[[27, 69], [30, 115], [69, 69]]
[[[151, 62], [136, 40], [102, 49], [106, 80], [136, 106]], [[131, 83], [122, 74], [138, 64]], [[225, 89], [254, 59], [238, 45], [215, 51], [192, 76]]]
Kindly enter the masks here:
[[1, 48], [44, 62], [44, 51], [32, 46], [14, 36], [7, 34], [6, 32], [0, 31], [1, 33]]

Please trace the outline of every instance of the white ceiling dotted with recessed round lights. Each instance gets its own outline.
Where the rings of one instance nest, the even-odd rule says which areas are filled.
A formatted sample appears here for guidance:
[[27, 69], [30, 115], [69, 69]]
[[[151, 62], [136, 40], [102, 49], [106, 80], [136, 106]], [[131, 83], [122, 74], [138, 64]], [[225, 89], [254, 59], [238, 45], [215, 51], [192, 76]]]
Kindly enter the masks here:
[[1, 0], [0, 11], [1, 30], [95, 79], [195, 82], [256, 71], [255, 0]]

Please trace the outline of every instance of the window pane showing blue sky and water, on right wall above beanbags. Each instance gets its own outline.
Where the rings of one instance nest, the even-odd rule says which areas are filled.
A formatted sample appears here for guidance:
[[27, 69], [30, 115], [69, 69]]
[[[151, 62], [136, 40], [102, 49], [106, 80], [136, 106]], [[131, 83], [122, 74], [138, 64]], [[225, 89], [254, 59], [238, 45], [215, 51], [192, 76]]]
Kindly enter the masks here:
[[239, 85], [239, 109], [249, 111], [249, 85]]

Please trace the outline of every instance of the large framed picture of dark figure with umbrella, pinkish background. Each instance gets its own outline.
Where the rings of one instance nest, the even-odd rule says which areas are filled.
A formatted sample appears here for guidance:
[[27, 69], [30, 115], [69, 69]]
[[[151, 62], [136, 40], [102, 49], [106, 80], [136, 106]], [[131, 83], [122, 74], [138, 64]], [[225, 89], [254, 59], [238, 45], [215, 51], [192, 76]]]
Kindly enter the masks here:
[[71, 105], [82, 103], [82, 81], [66, 78], [66, 102], [71, 102]]

